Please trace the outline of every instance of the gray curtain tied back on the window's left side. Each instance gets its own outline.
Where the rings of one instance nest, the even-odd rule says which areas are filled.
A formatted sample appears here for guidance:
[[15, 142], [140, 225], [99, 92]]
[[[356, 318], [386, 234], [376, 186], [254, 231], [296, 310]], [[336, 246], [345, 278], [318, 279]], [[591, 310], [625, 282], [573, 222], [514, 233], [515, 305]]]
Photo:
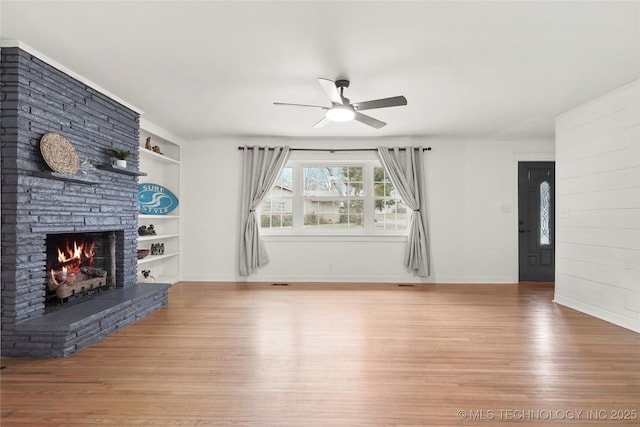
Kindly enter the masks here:
[[255, 209], [269, 194], [282, 173], [289, 147], [244, 146], [242, 151], [242, 188], [240, 193], [239, 272], [248, 276], [269, 263], [258, 227]]

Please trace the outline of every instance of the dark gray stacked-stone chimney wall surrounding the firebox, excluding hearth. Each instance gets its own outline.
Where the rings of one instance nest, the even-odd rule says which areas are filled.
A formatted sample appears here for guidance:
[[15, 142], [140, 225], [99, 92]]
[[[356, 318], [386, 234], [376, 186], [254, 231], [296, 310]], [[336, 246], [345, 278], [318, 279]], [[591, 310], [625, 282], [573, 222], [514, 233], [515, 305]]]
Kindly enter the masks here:
[[93, 185], [47, 177], [40, 138], [59, 133], [94, 165], [110, 163], [108, 148], [130, 150], [137, 170], [139, 114], [20, 48], [0, 54], [2, 354], [15, 355], [31, 340], [16, 325], [44, 314], [47, 233], [118, 231], [117, 286], [137, 280], [137, 178], [107, 170], [90, 175]]

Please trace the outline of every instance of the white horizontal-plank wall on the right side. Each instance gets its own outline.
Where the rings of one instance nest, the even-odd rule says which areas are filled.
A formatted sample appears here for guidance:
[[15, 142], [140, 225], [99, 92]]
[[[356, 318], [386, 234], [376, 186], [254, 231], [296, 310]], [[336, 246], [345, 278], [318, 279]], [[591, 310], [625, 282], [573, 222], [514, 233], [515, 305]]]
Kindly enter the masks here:
[[555, 301], [640, 332], [640, 80], [556, 121]]

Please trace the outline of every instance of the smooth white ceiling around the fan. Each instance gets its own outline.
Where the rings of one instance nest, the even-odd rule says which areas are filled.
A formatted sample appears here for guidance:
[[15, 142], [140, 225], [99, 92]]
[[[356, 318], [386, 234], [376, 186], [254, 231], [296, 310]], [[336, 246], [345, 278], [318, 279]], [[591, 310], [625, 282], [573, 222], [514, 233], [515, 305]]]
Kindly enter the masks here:
[[[638, 1], [7, 1], [18, 40], [189, 140], [545, 137], [554, 117], [640, 77]], [[315, 129], [318, 77], [388, 122]]]

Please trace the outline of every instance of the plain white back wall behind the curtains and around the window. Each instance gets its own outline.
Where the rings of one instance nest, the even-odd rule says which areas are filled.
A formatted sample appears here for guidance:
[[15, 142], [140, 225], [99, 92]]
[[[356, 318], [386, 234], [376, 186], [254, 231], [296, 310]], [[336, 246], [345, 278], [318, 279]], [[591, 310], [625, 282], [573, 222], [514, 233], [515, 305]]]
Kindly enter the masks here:
[[[431, 146], [425, 153], [432, 275], [402, 266], [404, 241], [269, 239], [271, 263], [237, 275], [239, 145], [296, 148]], [[182, 279], [516, 283], [517, 160], [553, 160], [552, 140], [200, 140], [182, 149]]]

